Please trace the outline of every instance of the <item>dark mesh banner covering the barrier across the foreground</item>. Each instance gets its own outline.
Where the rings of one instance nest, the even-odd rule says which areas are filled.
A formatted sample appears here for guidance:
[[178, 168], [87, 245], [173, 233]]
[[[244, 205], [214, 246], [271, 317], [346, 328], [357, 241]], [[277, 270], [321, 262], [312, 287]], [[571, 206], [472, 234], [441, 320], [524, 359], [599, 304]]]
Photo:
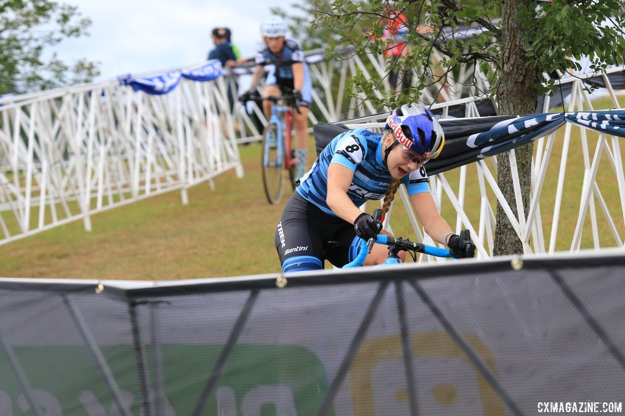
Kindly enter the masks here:
[[286, 280], [0, 279], [0, 414], [616, 412], [624, 264], [619, 252]]

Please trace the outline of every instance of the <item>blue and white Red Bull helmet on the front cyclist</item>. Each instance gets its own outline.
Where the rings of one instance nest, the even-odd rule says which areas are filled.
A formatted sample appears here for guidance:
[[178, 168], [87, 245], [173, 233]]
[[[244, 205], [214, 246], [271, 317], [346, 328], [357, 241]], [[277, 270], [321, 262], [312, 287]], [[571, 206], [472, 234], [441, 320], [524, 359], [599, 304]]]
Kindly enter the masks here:
[[437, 157], [445, 144], [445, 134], [434, 114], [420, 104], [404, 104], [386, 119], [386, 129], [397, 141], [426, 159]]

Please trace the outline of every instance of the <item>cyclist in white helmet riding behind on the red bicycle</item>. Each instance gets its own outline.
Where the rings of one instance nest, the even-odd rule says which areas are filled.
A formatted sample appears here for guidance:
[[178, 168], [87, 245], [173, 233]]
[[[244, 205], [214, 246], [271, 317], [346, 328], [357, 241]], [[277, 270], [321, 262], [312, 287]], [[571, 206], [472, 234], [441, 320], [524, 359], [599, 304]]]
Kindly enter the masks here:
[[[293, 125], [295, 127], [295, 156], [297, 158], [296, 179], [306, 172], [306, 158], [308, 156], [308, 107], [311, 98], [311, 79], [308, 67], [304, 61], [304, 52], [301, 44], [295, 39], [286, 37], [287, 25], [281, 17], [272, 16], [261, 25], [264, 45], [256, 56], [256, 68], [252, 75], [252, 82], [244, 96], [256, 90], [256, 86], [267, 61], [294, 61], [285, 66], [272, 66], [265, 80], [263, 97], [279, 97], [284, 94], [295, 94], [299, 97], [299, 112], [293, 109]], [[271, 117], [271, 101], [262, 102], [262, 111], [265, 117]]]

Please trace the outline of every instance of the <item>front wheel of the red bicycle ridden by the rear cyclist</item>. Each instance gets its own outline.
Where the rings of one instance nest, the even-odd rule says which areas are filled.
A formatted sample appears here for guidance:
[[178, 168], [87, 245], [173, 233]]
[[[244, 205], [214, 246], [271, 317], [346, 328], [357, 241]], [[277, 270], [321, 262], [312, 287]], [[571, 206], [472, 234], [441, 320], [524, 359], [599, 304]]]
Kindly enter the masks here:
[[281, 137], [277, 137], [276, 124], [268, 124], [262, 131], [262, 184], [269, 204], [276, 204], [282, 196], [284, 166], [278, 152]]

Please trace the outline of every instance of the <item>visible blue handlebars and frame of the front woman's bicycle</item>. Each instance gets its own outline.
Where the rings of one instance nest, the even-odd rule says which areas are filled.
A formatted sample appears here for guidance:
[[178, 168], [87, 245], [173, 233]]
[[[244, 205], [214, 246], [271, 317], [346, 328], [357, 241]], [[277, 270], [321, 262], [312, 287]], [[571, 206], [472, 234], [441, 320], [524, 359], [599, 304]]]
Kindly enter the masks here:
[[[379, 220], [382, 216], [382, 210], [374, 210], [372, 216], [374, 217], [374, 219]], [[433, 245], [412, 242], [409, 239], [404, 240], [401, 237], [394, 238], [388, 237], [387, 235], [379, 234], [377, 235], [377, 239], [375, 240], [369, 239], [369, 241], [367, 242], [363, 239], [360, 240], [361, 248], [358, 252], [358, 255], [356, 256], [356, 259], [344, 265], [343, 269], [361, 266], [362, 262], [364, 262], [364, 259], [367, 257], [367, 254], [371, 253], [371, 249], [373, 248], [374, 243], [386, 244], [389, 246], [388, 257], [386, 257], [386, 260], [384, 260], [384, 263], [382, 263], [381, 265], [401, 264], [401, 259], [399, 258], [399, 252], [401, 250], [408, 252], [412, 256], [412, 260], [414, 260], [415, 262], [417, 260], [417, 253], [436, 255], [436, 257], [452, 257], [449, 250], [441, 249], [440, 247], [434, 247]], [[365, 247], [367, 248], [366, 250]]]

